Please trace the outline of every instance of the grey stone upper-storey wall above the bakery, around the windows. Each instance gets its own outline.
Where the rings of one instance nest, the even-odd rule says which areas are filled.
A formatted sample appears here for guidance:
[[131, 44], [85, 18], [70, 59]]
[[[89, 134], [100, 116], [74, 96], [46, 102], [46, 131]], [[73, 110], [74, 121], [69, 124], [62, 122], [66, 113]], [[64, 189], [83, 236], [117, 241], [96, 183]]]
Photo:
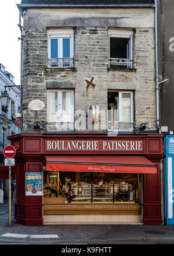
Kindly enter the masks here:
[[[108, 90], [133, 92], [135, 126], [148, 123], [146, 131], [155, 132], [153, 8], [27, 9], [23, 12], [23, 19], [23, 132], [40, 133], [47, 130], [48, 89], [74, 90], [74, 111], [77, 120], [74, 132], [86, 130], [85, 120], [90, 105], [97, 105], [106, 113]], [[59, 33], [59, 29], [73, 30], [73, 68], [48, 67], [48, 33], [51, 30], [57, 30]], [[123, 36], [132, 33], [132, 68], [109, 67], [111, 33]], [[95, 88], [89, 87], [86, 94], [85, 79], [92, 78]], [[28, 104], [34, 99], [44, 101], [45, 107], [41, 111], [35, 112], [28, 108]], [[84, 118], [78, 119], [79, 110], [84, 111]], [[106, 114], [102, 116], [102, 120], [107, 120]], [[82, 121], [81, 125], [79, 121]], [[44, 129], [33, 129], [34, 123], [39, 123]], [[90, 128], [89, 131], [92, 132]], [[99, 122], [99, 128], [95, 131], [106, 132], [106, 122]]]

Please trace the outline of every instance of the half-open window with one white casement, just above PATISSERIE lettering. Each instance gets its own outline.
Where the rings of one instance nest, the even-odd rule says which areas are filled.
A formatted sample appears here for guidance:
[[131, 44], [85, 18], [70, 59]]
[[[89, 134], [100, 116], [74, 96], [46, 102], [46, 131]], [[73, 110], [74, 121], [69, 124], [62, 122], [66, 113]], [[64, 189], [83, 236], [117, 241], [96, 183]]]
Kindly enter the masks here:
[[108, 92], [108, 131], [133, 131], [133, 92]]

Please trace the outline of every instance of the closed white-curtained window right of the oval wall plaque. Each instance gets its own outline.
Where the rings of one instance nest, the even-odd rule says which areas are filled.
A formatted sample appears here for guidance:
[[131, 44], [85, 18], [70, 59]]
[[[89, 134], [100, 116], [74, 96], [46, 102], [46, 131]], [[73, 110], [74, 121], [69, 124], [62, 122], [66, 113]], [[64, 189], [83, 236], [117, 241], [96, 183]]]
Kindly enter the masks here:
[[74, 130], [74, 91], [48, 91], [48, 130]]

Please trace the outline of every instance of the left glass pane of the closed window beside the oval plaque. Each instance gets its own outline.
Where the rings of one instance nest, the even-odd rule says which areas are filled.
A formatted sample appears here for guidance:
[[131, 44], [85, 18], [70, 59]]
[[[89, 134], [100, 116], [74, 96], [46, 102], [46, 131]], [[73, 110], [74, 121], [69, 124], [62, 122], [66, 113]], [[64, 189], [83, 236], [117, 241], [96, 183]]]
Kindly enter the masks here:
[[49, 101], [49, 122], [57, 122], [57, 92], [48, 93]]

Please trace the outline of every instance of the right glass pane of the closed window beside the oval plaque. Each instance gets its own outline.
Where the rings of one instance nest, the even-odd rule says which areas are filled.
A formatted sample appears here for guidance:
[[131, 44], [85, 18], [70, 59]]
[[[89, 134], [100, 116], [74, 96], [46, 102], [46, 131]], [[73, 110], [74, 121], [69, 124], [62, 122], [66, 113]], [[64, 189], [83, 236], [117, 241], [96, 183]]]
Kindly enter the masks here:
[[71, 92], [62, 92], [63, 122], [71, 122]]

